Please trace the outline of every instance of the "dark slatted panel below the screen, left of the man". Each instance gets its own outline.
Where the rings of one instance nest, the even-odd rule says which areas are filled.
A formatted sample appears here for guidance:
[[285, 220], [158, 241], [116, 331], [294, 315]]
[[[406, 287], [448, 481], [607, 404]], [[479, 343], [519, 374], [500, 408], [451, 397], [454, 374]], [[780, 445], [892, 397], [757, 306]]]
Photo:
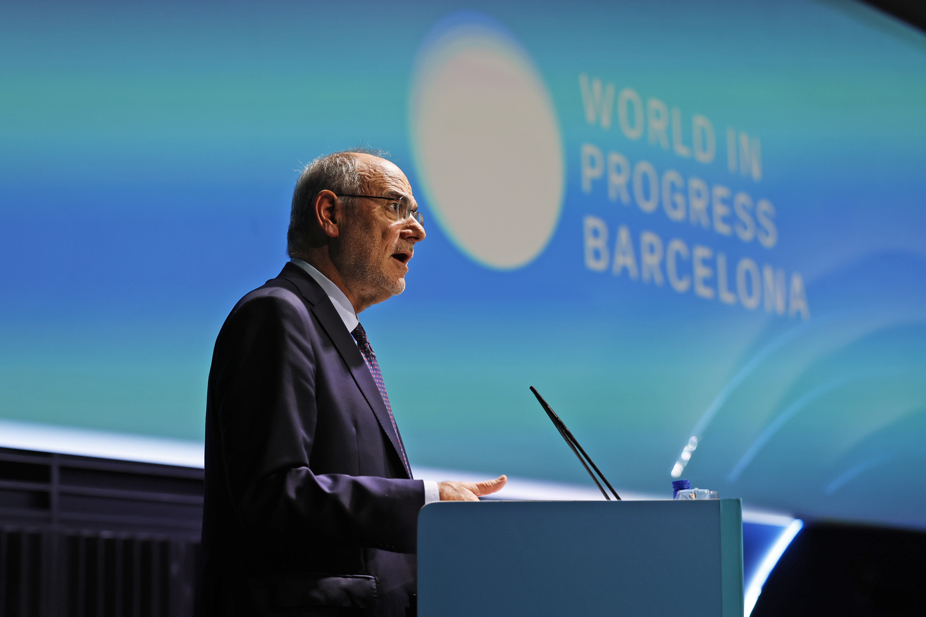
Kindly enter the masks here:
[[187, 617], [203, 470], [0, 449], [0, 617]]

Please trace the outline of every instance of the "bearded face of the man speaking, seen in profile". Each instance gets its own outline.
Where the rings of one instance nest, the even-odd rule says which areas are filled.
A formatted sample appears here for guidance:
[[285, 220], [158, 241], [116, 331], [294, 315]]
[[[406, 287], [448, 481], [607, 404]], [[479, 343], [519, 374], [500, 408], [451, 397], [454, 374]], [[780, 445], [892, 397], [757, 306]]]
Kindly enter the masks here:
[[[357, 154], [364, 166], [362, 193], [387, 197], [412, 196], [402, 170], [389, 161], [369, 154]], [[357, 291], [369, 303], [382, 302], [405, 290], [408, 260], [415, 244], [424, 240], [424, 228], [413, 216], [398, 221], [390, 202], [356, 199], [342, 227], [341, 272], [351, 278]]]

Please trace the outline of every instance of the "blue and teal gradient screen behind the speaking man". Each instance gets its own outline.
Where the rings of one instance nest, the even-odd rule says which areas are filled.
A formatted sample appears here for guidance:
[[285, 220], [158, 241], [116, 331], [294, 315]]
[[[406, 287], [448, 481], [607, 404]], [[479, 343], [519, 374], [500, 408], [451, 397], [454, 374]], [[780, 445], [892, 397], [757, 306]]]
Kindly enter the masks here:
[[[694, 485], [926, 526], [926, 39], [847, 2], [4, 3], [0, 417], [201, 439], [212, 343], [284, 263], [295, 170], [364, 142], [419, 186], [411, 71], [461, 9], [532, 57], [567, 185], [532, 264], [486, 269], [432, 224], [406, 293], [361, 315], [411, 460], [587, 482], [535, 385], [613, 484], [668, 494], [713, 403]], [[718, 160], [589, 126], [580, 72], [709, 117]], [[726, 170], [726, 126], [760, 136], [760, 182]], [[780, 241], [584, 194], [583, 142], [769, 198]], [[587, 215], [797, 270], [812, 316], [593, 272]]]

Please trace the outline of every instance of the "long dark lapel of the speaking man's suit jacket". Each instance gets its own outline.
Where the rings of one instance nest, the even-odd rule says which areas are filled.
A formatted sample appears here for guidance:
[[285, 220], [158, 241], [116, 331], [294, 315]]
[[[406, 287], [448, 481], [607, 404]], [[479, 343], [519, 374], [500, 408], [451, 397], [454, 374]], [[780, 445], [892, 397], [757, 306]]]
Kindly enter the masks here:
[[[398, 436], [395, 435], [393, 423], [389, 420], [389, 412], [386, 411], [386, 405], [382, 402], [380, 389], [376, 387], [376, 382], [373, 381], [373, 376], [369, 372], [369, 367], [367, 363], [364, 362], [363, 355], [357, 348], [357, 341], [354, 340], [354, 337], [352, 337], [350, 332], [347, 331], [347, 328], [344, 327], [344, 321], [341, 320], [341, 315], [338, 315], [338, 312], [334, 309], [328, 294], [325, 293], [325, 290], [321, 289], [321, 286], [315, 282], [314, 278], [311, 278], [298, 265], [292, 263], [286, 264], [283, 267], [278, 278], [285, 278], [293, 283], [295, 288], [299, 290], [303, 299], [309, 304], [309, 310], [311, 310], [312, 314], [319, 320], [319, 324], [322, 329], [324, 329], [325, 334], [328, 335], [328, 338], [332, 339], [334, 347], [337, 348], [351, 376], [354, 377], [354, 383], [357, 384], [357, 388], [360, 389], [364, 399], [367, 400], [369, 408], [376, 416], [380, 426], [382, 426], [382, 430], [385, 432], [386, 437], [388, 437], [390, 443], [393, 444], [395, 454], [398, 456], [399, 461], [401, 461], [402, 455], [400, 454], [401, 450], [399, 449]], [[404, 465], [403, 468], [405, 468]]]

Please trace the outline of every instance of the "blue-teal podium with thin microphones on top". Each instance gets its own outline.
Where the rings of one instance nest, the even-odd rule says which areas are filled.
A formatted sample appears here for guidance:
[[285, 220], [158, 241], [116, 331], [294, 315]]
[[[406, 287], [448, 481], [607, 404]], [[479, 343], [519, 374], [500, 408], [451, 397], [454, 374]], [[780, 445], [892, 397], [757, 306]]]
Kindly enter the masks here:
[[418, 523], [419, 617], [742, 617], [740, 500], [442, 501]]

